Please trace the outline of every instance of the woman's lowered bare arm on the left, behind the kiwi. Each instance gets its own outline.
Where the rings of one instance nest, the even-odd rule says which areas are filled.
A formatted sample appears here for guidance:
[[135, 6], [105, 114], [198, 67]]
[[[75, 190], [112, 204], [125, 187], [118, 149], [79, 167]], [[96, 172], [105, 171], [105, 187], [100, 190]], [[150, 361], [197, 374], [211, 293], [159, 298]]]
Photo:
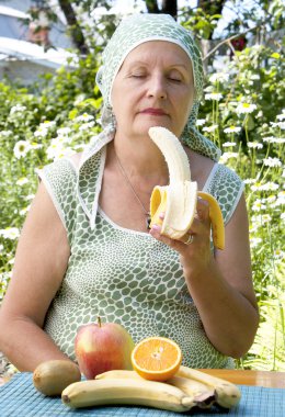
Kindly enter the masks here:
[[68, 359], [42, 328], [62, 281], [69, 252], [65, 227], [41, 183], [0, 309], [0, 350], [20, 371], [33, 371], [49, 359]]

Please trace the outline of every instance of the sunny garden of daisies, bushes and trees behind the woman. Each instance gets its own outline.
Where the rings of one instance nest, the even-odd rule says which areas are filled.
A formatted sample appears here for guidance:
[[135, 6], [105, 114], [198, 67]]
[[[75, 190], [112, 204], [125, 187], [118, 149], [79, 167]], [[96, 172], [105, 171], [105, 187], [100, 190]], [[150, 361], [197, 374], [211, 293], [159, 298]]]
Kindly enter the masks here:
[[[42, 3], [53, 24], [55, 11]], [[111, 1], [59, 3], [68, 3], [76, 18], [71, 24], [66, 14], [75, 68], [62, 67], [29, 87], [21, 80], [0, 80], [0, 304], [37, 188], [36, 169], [82, 150], [101, 129], [101, 95], [94, 79], [105, 40], [122, 15], [112, 14]], [[198, 1], [196, 7], [187, 1], [181, 7], [175, 1], [145, 3], [145, 12], [176, 14], [194, 32], [205, 64], [197, 126], [221, 148], [220, 164], [235, 169], [246, 184], [261, 323], [252, 348], [237, 367], [285, 371], [283, 2], [250, 1], [251, 9], [238, 0]], [[102, 8], [94, 13], [99, 5], [109, 13]], [[231, 19], [225, 23], [230, 10]]]

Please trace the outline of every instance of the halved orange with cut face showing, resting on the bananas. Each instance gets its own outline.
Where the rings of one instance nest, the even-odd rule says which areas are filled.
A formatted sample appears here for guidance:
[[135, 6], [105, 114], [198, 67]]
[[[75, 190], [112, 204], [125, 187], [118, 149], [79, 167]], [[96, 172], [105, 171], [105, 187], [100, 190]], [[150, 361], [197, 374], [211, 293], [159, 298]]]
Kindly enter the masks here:
[[148, 337], [138, 342], [132, 352], [134, 370], [146, 380], [167, 381], [179, 370], [181, 349], [166, 337]]

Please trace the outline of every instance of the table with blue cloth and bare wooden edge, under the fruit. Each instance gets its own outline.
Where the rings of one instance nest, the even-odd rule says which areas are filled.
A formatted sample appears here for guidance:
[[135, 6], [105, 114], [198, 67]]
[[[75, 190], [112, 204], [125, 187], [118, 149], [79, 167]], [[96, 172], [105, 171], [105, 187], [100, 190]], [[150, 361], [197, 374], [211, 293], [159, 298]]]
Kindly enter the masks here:
[[284, 417], [285, 372], [203, 370], [212, 375], [236, 383], [241, 391], [241, 401], [229, 412], [219, 408], [172, 413], [148, 407], [104, 406], [69, 409], [60, 398], [45, 397], [32, 382], [32, 373], [16, 373], [0, 386], [1, 417]]

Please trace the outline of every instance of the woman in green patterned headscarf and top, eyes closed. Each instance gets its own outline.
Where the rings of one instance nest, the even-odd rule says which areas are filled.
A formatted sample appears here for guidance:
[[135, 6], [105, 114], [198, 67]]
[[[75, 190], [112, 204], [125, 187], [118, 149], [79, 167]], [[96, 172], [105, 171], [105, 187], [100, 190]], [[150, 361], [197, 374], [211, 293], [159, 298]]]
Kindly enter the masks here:
[[[231, 368], [259, 319], [242, 182], [195, 129], [200, 52], [172, 18], [134, 15], [105, 48], [98, 83], [102, 133], [82, 155], [41, 172], [1, 307], [0, 350], [20, 370], [75, 360], [77, 328], [100, 315], [122, 324], [135, 342], [175, 340], [186, 365]], [[151, 126], [180, 137], [192, 179], [218, 200], [224, 251], [213, 249], [204, 201], [191, 245], [161, 236], [158, 225], [148, 230], [151, 191], [169, 181]]]

